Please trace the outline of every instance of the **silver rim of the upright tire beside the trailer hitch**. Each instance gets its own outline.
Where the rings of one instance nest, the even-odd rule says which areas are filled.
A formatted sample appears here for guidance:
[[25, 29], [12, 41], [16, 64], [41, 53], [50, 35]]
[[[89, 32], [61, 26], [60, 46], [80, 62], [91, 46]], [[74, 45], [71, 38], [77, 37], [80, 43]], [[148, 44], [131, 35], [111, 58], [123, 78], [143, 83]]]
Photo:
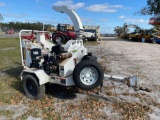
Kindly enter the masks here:
[[80, 72], [80, 80], [85, 85], [93, 85], [98, 79], [98, 71], [94, 67], [85, 67]]

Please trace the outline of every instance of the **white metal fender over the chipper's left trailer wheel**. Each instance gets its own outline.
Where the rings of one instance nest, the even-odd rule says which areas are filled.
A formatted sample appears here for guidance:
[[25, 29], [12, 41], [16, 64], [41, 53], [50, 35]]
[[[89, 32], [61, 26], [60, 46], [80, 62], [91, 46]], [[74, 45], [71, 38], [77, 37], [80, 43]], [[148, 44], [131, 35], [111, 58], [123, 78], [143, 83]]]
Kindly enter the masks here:
[[24, 79], [25, 75], [33, 75], [37, 78], [39, 85], [43, 85], [45, 83], [48, 83], [50, 80], [50, 77], [48, 76], [48, 74], [44, 71], [44, 70], [23, 70], [21, 73], [21, 80]]

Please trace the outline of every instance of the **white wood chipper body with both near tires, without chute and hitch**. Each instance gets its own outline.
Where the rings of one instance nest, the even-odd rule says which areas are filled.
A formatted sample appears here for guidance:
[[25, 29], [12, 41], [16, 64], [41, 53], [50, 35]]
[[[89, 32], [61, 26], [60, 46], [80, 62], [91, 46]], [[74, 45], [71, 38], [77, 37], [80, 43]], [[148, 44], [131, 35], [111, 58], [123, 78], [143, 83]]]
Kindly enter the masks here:
[[[23, 36], [25, 32], [31, 36]], [[26, 95], [40, 99], [45, 84], [55, 83], [91, 90], [102, 84], [104, 77], [95, 56], [87, 53], [82, 40], [65, 45], [53, 44], [46, 31], [22, 30], [19, 33], [22, 66], [21, 80]], [[53, 88], [54, 89], [54, 88]]]

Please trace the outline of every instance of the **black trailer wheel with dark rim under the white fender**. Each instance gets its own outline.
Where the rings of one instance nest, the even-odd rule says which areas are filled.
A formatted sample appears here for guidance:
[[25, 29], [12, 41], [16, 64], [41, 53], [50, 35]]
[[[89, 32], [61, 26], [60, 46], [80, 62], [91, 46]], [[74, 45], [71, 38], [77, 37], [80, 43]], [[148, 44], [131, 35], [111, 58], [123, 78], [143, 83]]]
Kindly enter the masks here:
[[39, 85], [33, 75], [26, 75], [24, 77], [23, 89], [25, 94], [34, 100], [41, 99], [45, 95], [45, 85]]

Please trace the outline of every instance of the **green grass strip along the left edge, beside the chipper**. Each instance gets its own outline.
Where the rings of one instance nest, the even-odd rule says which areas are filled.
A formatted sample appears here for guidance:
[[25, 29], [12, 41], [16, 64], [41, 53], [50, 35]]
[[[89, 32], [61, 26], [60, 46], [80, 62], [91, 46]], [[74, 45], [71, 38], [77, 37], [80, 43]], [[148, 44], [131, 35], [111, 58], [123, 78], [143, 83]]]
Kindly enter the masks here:
[[[0, 43], [0, 72], [4, 74], [0, 80], [0, 103], [11, 104], [12, 97], [17, 96], [18, 91], [22, 92], [19, 80], [22, 70], [20, 67], [20, 45], [18, 39], [1, 38]], [[21, 92], [19, 95], [22, 95]]]

